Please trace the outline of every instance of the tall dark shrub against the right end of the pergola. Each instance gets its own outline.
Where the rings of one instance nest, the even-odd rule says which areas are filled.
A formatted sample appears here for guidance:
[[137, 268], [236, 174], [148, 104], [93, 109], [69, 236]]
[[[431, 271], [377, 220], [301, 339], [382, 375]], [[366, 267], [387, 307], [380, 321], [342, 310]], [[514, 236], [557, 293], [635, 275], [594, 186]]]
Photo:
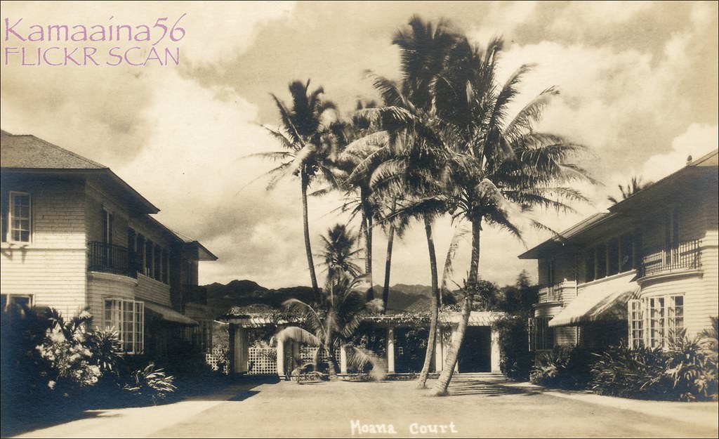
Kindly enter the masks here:
[[495, 321], [498, 332], [500, 370], [509, 379], [523, 381], [529, 378], [534, 358], [529, 351], [527, 320], [521, 316], [506, 316]]

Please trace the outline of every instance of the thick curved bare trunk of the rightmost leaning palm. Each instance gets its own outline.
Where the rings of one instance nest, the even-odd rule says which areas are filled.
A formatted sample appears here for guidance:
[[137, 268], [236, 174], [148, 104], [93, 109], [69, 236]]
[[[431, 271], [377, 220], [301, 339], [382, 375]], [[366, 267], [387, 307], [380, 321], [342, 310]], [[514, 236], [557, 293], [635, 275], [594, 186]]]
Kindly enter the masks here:
[[[482, 225], [482, 217], [472, 218], [472, 260], [470, 261], [470, 276], [467, 280], [468, 285], [474, 285], [477, 282], [480, 268], [480, 230]], [[464, 332], [467, 330], [467, 325], [470, 323], [470, 312], [472, 312], [472, 297], [464, 293], [464, 300], [462, 301], [462, 314], [459, 319], [459, 326], [457, 331], [452, 335], [452, 346], [449, 348], [447, 353], [447, 359], [444, 363], [444, 369], [439, 375], [437, 384], [434, 387], [434, 394], [441, 396], [447, 394], [447, 388], [449, 382], [452, 381], [452, 375], [454, 374], [454, 368], [457, 367], [457, 359], [459, 358], [459, 348], [462, 347], [462, 340], [464, 340]]]

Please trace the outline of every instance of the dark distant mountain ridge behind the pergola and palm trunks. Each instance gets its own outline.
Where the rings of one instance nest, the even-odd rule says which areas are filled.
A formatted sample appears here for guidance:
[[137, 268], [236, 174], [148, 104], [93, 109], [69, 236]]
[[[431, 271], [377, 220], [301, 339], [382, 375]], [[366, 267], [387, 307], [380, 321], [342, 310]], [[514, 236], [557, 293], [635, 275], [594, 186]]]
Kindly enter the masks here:
[[[300, 299], [312, 302], [313, 294], [309, 286], [267, 289], [256, 282], [235, 280], [229, 284], [209, 284], [207, 304], [217, 309], [249, 307], [250, 305], [279, 308], [287, 299]], [[382, 286], [375, 285], [375, 297], [382, 297]], [[396, 284], [390, 287], [388, 309], [394, 311], [422, 311], [429, 309], [431, 287], [424, 285]]]

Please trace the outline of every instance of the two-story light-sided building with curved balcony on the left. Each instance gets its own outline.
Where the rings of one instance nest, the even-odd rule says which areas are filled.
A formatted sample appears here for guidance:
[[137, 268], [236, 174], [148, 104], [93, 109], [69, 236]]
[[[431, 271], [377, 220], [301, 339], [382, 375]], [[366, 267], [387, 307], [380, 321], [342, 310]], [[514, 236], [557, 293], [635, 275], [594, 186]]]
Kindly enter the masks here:
[[87, 307], [126, 353], [162, 358], [183, 336], [210, 348], [198, 262], [215, 255], [106, 166], [32, 135], [3, 131], [0, 145], [3, 309]]

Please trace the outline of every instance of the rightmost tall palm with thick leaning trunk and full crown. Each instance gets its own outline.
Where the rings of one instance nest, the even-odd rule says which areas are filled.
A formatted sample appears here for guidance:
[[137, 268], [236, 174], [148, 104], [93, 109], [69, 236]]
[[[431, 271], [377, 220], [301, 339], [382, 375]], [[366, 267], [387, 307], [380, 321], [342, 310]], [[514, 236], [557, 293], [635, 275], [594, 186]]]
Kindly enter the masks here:
[[[436, 83], [437, 112], [444, 123], [443, 145], [450, 152], [444, 191], [439, 197], [454, 217], [467, 219], [472, 230], [461, 319], [436, 383], [438, 395], [446, 394], [469, 322], [471, 292], [480, 279], [482, 223], [502, 227], [521, 238], [521, 230], [513, 222], [515, 214], [526, 214], [535, 206], [571, 210], [566, 202], [585, 200], [579, 191], [561, 186], [564, 181], [587, 178], [585, 171], [567, 163], [580, 146], [558, 135], [533, 131], [557, 90], [546, 89], [508, 119], [508, 104], [518, 94], [517, 86], [531, 66], [523, 65], [498, 86], [495, 72], [502, 45], [495, 39], [486, 50], [479, 50], [466, 39], [460, 40]], [[530, 222], [544, 227], [536, 220]]]

